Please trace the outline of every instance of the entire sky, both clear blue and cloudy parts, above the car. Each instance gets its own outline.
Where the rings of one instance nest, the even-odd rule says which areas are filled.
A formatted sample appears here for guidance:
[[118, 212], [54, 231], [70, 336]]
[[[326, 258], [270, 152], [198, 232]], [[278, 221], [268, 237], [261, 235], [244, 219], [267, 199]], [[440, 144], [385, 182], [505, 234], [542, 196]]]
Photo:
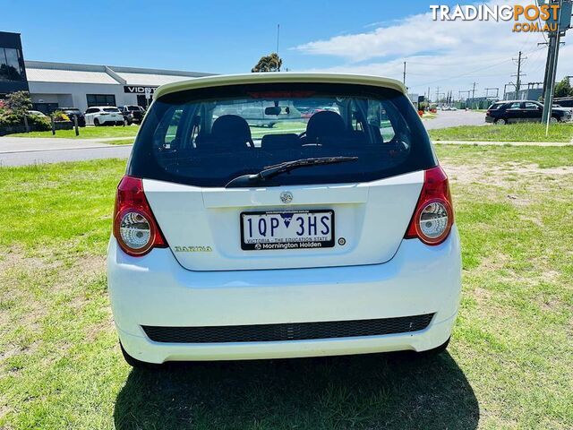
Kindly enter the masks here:
[[[0, 0], [0, 30], [20, 32], [30, 60], [244, 73], [275, 50], [280, 23], [279, 54], [292, 71], [401, 79], [406, 60], [406, 84], [416, 92], [457, 93], [478, 82], [481, 95], [515, 80], [511, 58], [522, 50], [525, 79], [543, 79], [542, 35], [514, 34], [508, 22], [432, 22], [435, 3], [457, 2]], [[558, 78], [573, 74], [573, 51], [564, 51]]]

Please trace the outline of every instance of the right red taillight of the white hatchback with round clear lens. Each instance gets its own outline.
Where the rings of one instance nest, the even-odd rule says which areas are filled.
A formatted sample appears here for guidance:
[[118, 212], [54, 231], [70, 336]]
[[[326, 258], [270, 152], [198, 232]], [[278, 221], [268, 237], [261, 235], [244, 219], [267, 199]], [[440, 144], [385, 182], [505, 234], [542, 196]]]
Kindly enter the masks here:
[[418, 237], [424, 244], [438, 245], [448, 237], [453, 223], [448, 176], [440, 166], [426, 170], [406, 239]]

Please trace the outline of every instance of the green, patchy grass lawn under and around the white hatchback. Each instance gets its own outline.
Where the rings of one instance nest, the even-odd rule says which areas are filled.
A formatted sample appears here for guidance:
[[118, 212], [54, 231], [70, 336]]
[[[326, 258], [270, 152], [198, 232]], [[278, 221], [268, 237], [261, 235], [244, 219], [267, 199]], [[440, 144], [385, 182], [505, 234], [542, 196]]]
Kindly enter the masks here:
[[0, 168], [0, 428], [573, 428], [573, 148], [438, 145], [463, 243], [449, 353], [124, 364], [124, 160]]

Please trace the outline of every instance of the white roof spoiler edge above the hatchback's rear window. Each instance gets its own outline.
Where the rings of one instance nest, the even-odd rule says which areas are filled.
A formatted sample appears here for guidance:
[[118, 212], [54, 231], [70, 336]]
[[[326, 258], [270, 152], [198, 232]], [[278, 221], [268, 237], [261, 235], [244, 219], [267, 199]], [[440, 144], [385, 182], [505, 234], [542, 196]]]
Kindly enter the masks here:
[[406, 94], [406, 87], [402, 82], [381, 76], [369, 76], [364, 74], [343, 73], [244, 73], [244, 74], [219, 74], [194, 78], [186, 81], [167, 83], [161, 85], [153, 94], [154, 99], [159, 99], [166, 94], [184, 90], [196, 90], [199, 88], [221, 87], [225, 85], [240, 85], [244, 83], [351, 83], [358, 85], [372, 85], [375, 87], [391, 88]]

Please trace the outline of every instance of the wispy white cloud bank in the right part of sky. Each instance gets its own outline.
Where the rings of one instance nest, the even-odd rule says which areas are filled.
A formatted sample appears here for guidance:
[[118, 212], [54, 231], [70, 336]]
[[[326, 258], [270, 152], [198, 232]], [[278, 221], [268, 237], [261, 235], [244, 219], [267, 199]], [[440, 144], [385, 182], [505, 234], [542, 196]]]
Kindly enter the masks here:
[[[508, 3], [492, 0], [488, 4]], [[505, 83], [515, 82], [511, 74], [516, 73], [517, 65], [511, 58], [520, 50], [527, 56], [522, 82], [543, 81], [547, 50], [537, 46], [544, 41], [543, 35], [514, 33], [512, 25], [501, 21], [433, 22], [428, 12], [372, 31], [311, 41], [294, 49], [340, 59], [337, 66], [314, 71], [376, 74], [401, 80], [406, 61], [406, 85], [412, 90], [422, 93], [431, 86], [433, 94], [440, 86], [455, 90], [458, 96], [458, 90], [468, 90], [477, 82], [475, 94], [481, 96], [485, 88], [497, 87], [501, 92]], [[573, 74], [573, 47], [569, 45], [560, 50], [558, 79], [564, 74]]]

